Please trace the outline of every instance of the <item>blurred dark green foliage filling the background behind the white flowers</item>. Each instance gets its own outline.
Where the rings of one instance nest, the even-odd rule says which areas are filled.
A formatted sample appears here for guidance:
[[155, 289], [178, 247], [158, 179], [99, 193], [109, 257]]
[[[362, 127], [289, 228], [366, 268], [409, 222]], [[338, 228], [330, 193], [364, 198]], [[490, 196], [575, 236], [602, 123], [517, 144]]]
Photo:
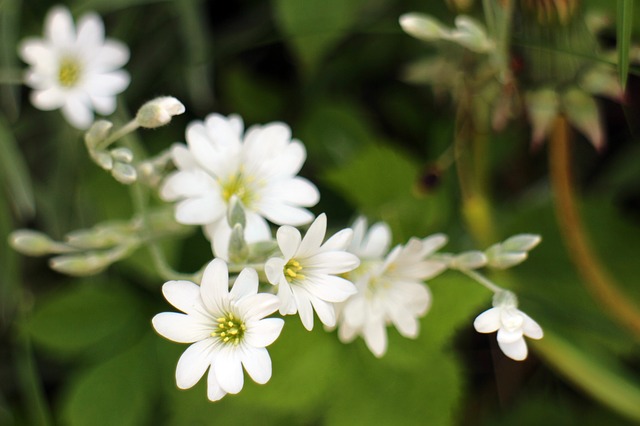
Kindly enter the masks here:
[[[477, 3], [471, 13], [481, 16]], [[52, 4], [0, 3], [2, 67], [20, 66], [16, 41], [40, 33]], [[314, 212], [328, 212], [330, 226], [347, 226], [364, 213], [371, 223], [387, 221], [396, 243], [446, 232], [445, 250], [474, 247], [460, 213], [456, 166], [441, 161], [454, 138], [455, 109], [429, 89], [400, 81], [407, 63], [433, 49], [405, 35], [398, 17], [423, 11], [450, 24], [454, 13], [444, 1], [93, 0], [69, 6], [74, 14], [96, 10], [107, 34], [129, 44], [132, 84], [120, 99], [122, 111], [164, 94], [187, 106], [170, 126], [140, 132], [149, 152], [184, 140], [185, 125], [209, 112], [238, 113], [246, 125], [281, 120], [306, 145], [302, 174], [320, 187]], [[615, 2], [587, 6], [615, 16]], [[631, 40], [637, 40], [638, 16]], [[610, 34], [615, 31], [605, 38]], [[598, 254], [640, 305], [635, 70], [632, 64], [629, 104], [623, 109], [604, 101], [608, 151], [598, 155], [581, 144], [574, 166]], [[492, 278], [516, 291], [523, 310], [553, 336], [540, 343], [540, 357], [534, 347], [530, 360], [515, 365], [497, 350], [494, 336], [475, 335], [473, 318], [490, 305], [490, 294], [448, 272], [428, 283], [434, 302], [418, 339], [390, 330], [382, 359], [360, 339], [343, 345], [335, 332], [316, 327], [308, 333], [299, 319], [287, 318], [269, 348], [271, 381], [247, 380], [239, 395], [210, 403], [204, 379], [188, 391], [176, 388], [175, 365], [186, 346], [151, 328], [150, 318], [169, 307], [148, 253], [98, 278], [70, 280], [49, 271], [46, 260], [9, 248], [16, 228], [59, 238], [106, 219], [127, 219], [133, 209], [128, 190], [90, 164], [81, 134], [58, 112], [34, 109], [25, 90], [3, 86], [0, 93], [0, 424], [640, 421], [634, 411], [636, 402], [640, 407], [638, 339], [585, 290], [554, 218], [545, 155], [529, 150], [523, 119], [488, 135], [493, 221], [500, 237], [538, 233], [543, 243], [522, 266]], [[211, 258], [198, 232], [164, 242], [163, 250], [176, 269], [191, 271]], [[563, 368], [578, 361], [583, 370]], [[606, 380], [594, 383], [598, 378]]]

